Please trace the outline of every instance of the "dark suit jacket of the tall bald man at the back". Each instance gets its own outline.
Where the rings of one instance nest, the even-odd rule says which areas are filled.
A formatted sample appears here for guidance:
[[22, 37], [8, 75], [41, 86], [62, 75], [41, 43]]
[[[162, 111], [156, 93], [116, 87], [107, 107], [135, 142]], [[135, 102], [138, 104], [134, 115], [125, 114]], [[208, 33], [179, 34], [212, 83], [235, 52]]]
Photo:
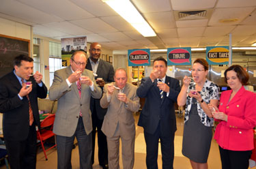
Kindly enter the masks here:
[[[91, 62], [89, 61], [89, 59], [87, 61], [87, 65], [86, 65], [85, 69], [92, 71]], [[95, 77], [95, 79], [102, 78], [105, 81], [105, 83], [115, 81], [114, 80], [115, 72], [114, 72], [113, 65], [111, 65], [110, 63], [108, 63], [106, 61], [103, 61], [102, 59], [100, 59], [100, 61], [99, 61], [99, 65], [98, 65], [96, 74], [98, 76]], [[102, 89], [102, 91], [103, 91], [103, 89]], [[106, 114], [107, 108], [100, 107], [100, 99], [91, 98], [90, 105], [91, 105], [91, 112], [94, 112], [94, 105], [96, 105], [95, 107], [96, 107], [96, 113], [97, 113], [98, 119], [103, 120], [104, 115]]]

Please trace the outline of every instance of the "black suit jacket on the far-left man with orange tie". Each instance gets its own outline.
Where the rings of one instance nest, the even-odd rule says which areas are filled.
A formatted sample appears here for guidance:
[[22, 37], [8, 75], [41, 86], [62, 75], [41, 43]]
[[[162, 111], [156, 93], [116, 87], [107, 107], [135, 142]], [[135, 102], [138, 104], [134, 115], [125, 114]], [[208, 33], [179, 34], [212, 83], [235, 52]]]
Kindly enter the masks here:
[[[29, 100], [33, 110], [33, 119], [40, 127], [38, 97], [45, 98], [47, 88], [44, 83], [40, 87], [32, 76], [29, 81], [32, 82]], [[14, 72], [0, 79], [0, 112], [3, 113], [3, 135], [7, 140], [25, 140], [29, 135], [29, 101], [27, 96], [23, 99], [18, 97], [21, 87]]]

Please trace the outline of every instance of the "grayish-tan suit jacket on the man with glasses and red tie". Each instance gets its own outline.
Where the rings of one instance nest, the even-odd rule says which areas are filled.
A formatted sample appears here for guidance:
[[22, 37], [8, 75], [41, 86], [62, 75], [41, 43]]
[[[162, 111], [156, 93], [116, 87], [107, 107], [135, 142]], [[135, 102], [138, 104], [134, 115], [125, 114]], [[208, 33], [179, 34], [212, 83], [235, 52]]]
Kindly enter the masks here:
[[49, 98], [58, 100], [58, 108], [55, 114], [53, 132], [59, 136], [73, 136], [79, 121], [79, 112], [83, 114], [83, 125], [86, 134], [92, 130], [91, 111], [89, 103], [91, 96], [100, 98], [102, 91], [94, 80], [94, 75], [89, 70], [84, 70], [82, 75], [88, 76], [94, 82], [94, 91], [91, 91], [88, 85], [82, 84], [81, 98], [76, 83], [68, 87], [66, 79], [72, 74], [71, 67], [57, 70], [54, 74], [53, 84], [49, 89]]

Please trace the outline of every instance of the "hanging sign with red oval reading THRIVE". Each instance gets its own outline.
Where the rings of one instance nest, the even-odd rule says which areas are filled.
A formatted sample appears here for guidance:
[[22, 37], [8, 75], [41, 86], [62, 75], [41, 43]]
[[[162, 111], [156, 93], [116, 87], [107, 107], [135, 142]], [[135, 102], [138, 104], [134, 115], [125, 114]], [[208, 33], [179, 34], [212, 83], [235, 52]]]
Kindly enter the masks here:
[[167, 65], [191, 65], [191, 48], [167, 48]]

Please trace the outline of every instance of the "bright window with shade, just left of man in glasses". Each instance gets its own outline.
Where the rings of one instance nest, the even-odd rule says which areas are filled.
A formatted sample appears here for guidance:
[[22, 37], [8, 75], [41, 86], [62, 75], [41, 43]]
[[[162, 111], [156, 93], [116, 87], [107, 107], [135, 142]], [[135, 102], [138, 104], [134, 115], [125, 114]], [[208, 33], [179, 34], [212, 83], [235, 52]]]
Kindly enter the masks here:
[[61, 44], [49, 42], [50, 86], [53, 84], [54, 72], [61, 69]]

